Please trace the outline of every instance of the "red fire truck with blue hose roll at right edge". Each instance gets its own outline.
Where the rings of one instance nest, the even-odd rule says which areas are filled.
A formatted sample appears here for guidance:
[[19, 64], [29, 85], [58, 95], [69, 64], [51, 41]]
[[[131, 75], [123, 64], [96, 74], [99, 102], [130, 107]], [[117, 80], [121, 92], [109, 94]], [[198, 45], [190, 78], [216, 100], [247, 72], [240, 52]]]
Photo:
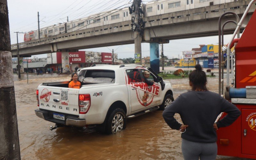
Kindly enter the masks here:
[[[255, 1], [252, 0], [248, 5], [229, 42], [230, 45], [250, 7], [255, 5]], [[230, 45], [227, 48], [227, 63], [232, 47]], [[229, 84], [228, 67], [227, 84]], [[235, 85], [226, 86], [225, 98], [235, 104], [242, 114], [232, 125], [217, 131], [218, 155], [256, 159], [256, 11], [236, 44]], [[220, 119], [224, 116], [225, 114]]]

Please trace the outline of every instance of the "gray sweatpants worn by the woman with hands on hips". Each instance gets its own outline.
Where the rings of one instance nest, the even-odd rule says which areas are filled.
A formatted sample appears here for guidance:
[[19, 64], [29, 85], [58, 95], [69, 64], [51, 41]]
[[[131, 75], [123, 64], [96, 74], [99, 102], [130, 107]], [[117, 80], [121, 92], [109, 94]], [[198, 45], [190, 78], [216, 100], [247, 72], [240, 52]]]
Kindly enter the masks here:
[[199, 143], [182, 139], [182, 154], [185, 160], [214, 160], [217, 156], [217, 143]]

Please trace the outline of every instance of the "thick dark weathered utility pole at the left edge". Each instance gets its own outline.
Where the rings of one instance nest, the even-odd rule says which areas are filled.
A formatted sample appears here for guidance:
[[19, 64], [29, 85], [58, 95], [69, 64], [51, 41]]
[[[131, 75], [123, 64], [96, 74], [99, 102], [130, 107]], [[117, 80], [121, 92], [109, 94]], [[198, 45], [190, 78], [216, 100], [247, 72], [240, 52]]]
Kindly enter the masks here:
[[7, 0], [0, 8], [0, 159], [20, 160]]

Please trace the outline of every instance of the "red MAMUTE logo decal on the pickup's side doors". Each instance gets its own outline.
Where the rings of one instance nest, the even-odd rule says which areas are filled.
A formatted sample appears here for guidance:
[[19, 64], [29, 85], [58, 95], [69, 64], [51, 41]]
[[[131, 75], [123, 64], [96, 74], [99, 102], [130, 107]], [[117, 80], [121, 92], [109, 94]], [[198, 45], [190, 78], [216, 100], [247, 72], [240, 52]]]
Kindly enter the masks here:
[[137, 98], [145, 107], [152, 103], [154, 96], [159, 97], [160, 86], [157, 84], [149, 86], [146, 83], [128, 83], [127, 85], [136, 88]]

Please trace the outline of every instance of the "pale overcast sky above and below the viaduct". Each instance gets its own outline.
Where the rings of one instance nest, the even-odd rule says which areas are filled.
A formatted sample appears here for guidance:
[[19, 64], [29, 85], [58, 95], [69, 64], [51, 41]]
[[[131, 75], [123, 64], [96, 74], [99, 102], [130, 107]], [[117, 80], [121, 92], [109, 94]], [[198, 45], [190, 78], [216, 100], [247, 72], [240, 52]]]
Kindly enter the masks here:
[[[145, 4], [148, 1], [144, 0], [143, 2], [142, 0]], [[40, 15], [40, 28], [43, 28], [67, 22], [67, 16], [69, 21], [76, 20], [116, 7], [130, 6], [131, 2], [131, 0], [7, 0], [11, 44], [17, 43], [16, 33], [13, 32], [28, 32], [38, 28], [37, 12]], [[24, 34], [19, 34], [18, 37], [19, 42], [23, 42]], [[230, 37], [230, 35], [224, 36], [224, 44], [228, 43]], [[171, 40], [169, 44], [164, 44], [164, 55], [168, 58], [178, 58], [178, 55], [182, 55], [182, 51], [199, 48], [199, 44], [217, 43], [218, 36]], [[161, 47], [159, 46], [159, 48]], [[85, 51], [112, 52], [112, 49], [118, 54], [118, 58], [134, 58], [134, 44], [91, 48]], [[142, 57], [150, 56], [149, 43], [143, 43], [141, 50]], [[36, 57], [46, 57], [46, 54], [36, 55]]]

